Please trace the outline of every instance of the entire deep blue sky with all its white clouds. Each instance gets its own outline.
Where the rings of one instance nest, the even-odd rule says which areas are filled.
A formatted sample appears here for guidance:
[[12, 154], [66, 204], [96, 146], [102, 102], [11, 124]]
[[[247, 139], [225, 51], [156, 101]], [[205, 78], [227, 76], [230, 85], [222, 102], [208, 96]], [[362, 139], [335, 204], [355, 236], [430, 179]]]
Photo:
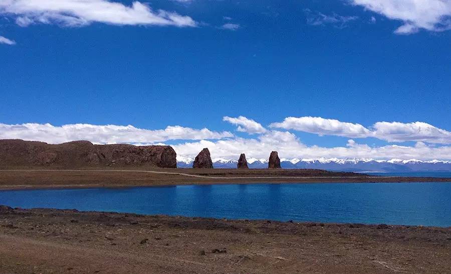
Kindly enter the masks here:
[[0, 0], [0, 139], [451, 160], [451, 0]]

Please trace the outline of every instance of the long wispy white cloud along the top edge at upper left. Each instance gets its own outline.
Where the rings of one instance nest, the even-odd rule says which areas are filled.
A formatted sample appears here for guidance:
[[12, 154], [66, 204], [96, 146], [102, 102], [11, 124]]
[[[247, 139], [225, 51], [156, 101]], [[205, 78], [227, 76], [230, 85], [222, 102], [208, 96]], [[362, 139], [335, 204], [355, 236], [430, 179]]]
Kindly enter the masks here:
[[159, 25], [194, 27], [188, 16], [163, 10], [153, 11], [135, 1], [131, 6], [107, 0], [1, 0], [0, 14], [15, 16], [20, 26], [58, 24], [85, 26], [93, 22], [113, 25]]

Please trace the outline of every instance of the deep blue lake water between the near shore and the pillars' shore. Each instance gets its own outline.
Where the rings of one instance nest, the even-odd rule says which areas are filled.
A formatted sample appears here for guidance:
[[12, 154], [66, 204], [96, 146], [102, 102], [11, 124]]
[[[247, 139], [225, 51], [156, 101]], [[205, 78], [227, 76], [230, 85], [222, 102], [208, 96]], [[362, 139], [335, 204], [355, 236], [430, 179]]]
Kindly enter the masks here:
[[0, 204], [234, 219], [451, 226], [451, 183], [0, 191]]

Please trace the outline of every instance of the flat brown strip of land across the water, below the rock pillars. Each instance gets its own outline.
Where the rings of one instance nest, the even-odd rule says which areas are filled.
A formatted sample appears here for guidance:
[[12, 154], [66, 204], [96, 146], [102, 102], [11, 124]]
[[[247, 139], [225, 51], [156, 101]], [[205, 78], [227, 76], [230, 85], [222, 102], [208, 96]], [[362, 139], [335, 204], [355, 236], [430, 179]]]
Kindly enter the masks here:
[[302, 169], [0, 170], [0, 189], [281, 182], [451, 182], [451, 178], [375, 177], [350, 172]]

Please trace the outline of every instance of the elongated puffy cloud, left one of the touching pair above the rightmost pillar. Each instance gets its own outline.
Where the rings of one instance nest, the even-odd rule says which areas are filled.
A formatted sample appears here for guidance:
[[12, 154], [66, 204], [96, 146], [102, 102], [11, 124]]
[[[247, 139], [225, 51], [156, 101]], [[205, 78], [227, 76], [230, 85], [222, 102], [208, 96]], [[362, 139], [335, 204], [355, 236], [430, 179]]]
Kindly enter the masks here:
[[342, 122], [321, 117], [287, 117], [283, 122], [270, 124], [270, 127], [294, 129], [318, 135], [337, 135], [349, 138], [364, 138], [371, 131], [358, 123]]

